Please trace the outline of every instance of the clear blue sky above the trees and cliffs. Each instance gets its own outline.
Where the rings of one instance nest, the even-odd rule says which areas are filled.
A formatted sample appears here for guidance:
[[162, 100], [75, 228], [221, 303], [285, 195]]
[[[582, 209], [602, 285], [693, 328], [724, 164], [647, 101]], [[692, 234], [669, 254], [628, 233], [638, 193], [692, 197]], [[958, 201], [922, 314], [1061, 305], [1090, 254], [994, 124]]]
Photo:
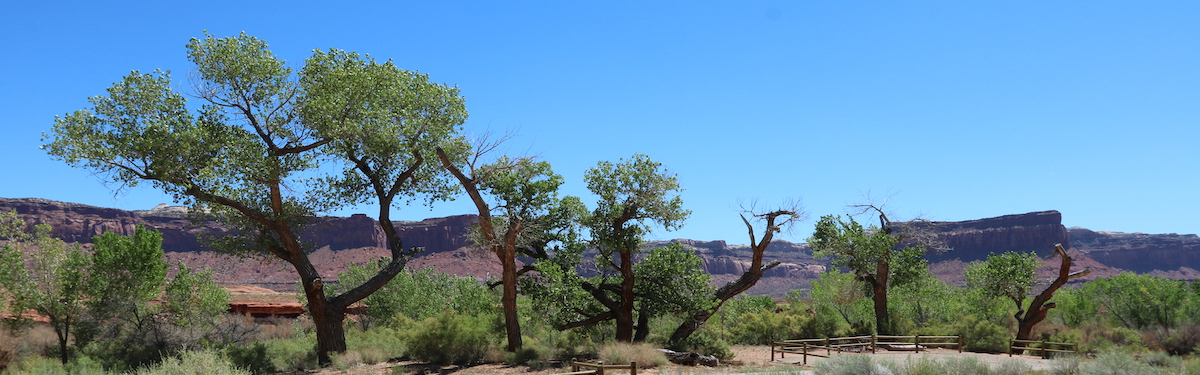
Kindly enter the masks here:
[[[1198, 1], [17, 1], [0, 12], [0, 197], [149, 209], [38, 149], [131, 70], [174, 72], [203, 30], [392, 59], [462, 89], [466, 129], [583, 171], [647, 154], [692, 216], [655, 239], [746, 243], [738, 202], [810, 219], [1056, 209], [1067, 226], [1200, 232]], [[332, 214], [373, 212], [352, 208]], [[466, 200], [400, 208], [420, 220]]]

